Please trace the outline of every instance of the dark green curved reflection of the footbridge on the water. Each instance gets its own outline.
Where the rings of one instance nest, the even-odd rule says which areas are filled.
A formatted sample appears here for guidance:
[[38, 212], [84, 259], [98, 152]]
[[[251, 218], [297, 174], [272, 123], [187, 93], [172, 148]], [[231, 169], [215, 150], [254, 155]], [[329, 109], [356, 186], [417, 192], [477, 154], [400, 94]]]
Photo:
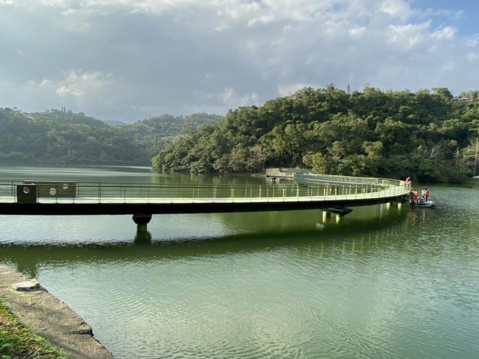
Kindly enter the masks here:
[[[19, 271], [34, 278], [37, 276], [39, 266], [64, 266], [81, 262], [150, 262], [279, 248], [296, 248], [300, 251], [309, 248], [308, 250], [319, 250], [322, 256], [327, 255], [330, 250], [354, 252], [364, 245], [382, 243], [385, 239], [394, 238], [407, 227], [415, 225], [416, 221], [423, 220], [414, 210], [401, 210], [397, 206], [386, 204], [378, 207], [377, 214], [369, 216], [367, 221], [363, 217], [352, 217], [347, 223], [337, 223], [334, 219], [319, 218], [315, 224], [310, 223], [309, 226], [302, 228], [294, 227], [292, 230], [291, 228], [274, 230], [271, 226], [266, 231], [220, 237], [151, 240], [151, 233], [147, 232], [149, 241], [141, 238], [139, 241], [112, 240], [105, 244], [67, 244], [61, 240], [52, 244], [5, 243], [0, 251], [0, 262], [16, 266]], [[419, 213], [427, 214], [424, 211]], [[237, 223], [239, 218], [240, 216], [234, 215], [226, 220], [229, 221], [229, 226], [242, 227], [241, 223]]]

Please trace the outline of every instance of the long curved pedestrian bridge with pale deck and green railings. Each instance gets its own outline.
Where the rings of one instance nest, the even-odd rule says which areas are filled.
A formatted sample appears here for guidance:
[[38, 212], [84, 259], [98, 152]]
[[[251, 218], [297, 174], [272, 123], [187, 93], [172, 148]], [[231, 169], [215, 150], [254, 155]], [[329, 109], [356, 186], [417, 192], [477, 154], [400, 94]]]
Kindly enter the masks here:
[[344, 208], [403, 200], [394, 179], [301, 174], [296, 184], [0, 181], [0, 214], [215, 213]]

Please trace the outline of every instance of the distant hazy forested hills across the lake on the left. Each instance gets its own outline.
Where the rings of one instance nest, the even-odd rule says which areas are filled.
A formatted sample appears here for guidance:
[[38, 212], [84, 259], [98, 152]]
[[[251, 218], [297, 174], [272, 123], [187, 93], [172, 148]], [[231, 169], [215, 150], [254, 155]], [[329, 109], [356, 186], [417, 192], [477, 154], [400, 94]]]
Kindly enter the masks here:
[[111, 127], [83, 113], [0, 108], [0, 162], [149, 165], [165, 144], [222, 116], [163, 115]]

